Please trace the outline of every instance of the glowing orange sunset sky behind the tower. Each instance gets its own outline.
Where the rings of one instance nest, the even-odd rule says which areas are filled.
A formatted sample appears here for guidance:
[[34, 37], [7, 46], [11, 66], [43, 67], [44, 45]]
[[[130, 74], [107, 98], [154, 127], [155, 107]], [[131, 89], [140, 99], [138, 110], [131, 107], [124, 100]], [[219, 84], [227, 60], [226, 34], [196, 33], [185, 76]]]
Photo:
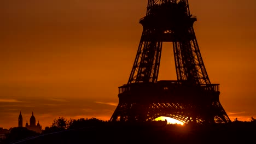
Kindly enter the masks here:
[[[0, 2], [0, 127], [32, 111], [43, 128], [54, 118], [108, 120], [136, 55], [147, 0]], [[195, 32], [212, 83], [232, 121], [256, 117], [254, 0], [191, 0]], [[159, 80], [176, 80], [164, 44]]]

